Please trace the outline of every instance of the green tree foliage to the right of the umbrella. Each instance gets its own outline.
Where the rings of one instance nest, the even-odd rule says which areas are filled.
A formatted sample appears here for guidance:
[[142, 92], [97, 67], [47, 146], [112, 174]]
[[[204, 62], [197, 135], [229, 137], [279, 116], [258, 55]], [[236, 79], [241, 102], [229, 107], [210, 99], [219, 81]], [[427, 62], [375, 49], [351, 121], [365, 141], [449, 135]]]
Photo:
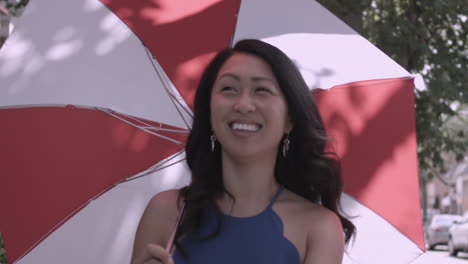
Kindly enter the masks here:
[[459, 110], [468, 104], [466, 0], [319, 2], [406, 70], [423, 76], [427, 89], [415, 91], [420, 169], [440, 174], [446, 170], [444, 155], [463, 159], [468, 123]]

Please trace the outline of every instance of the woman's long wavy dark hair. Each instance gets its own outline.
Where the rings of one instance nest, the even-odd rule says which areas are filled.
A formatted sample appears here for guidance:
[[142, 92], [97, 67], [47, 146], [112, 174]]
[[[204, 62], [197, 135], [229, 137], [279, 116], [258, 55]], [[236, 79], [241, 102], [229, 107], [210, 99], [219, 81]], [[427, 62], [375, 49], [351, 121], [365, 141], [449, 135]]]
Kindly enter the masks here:
[[[192, 129], [185, 147], [192, 182], [180, 192], [179, 199], [185, 200], [185, 212], [176, 241], [200, 226], [204, 208], [216, 207], [216, 199], [225, 193], [229, 194], [223, 184], [219, 143], [216, 143], [214, 151], [211, 150], [210, 100], [219, 70], [236, 53], [254, 55], [269, 64], [287, 101], [293, 129], [289, 134], [290, 145], [286, 158], [280, 153], [281, 144], [278, 149], [276, 181], [305, 199], [333, 211], [340, 218], [348, 243], [355, 233], [355, 227], [339, 208], [343, 188], [340, 163], [334, 153], [326, 150], [328, 138], [311, 92], [296, 65], [286, 54], [255, 39], [241, 40], [233, 48], [220, 51], [201, 77], [195, 95]], [[218, 228], [204, 239], [216, 236], [220, 230], [222, 217], [219, 208], [216, 209]], [[180, 248], [179, 243], [176, 245]]]

